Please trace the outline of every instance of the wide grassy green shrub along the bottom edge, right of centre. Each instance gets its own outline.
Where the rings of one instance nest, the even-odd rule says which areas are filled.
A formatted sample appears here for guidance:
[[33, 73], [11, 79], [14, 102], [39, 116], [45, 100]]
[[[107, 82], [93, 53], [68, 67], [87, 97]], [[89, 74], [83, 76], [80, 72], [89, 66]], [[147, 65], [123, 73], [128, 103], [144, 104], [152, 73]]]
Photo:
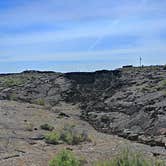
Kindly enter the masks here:
[[94, 166], [165, 166], [164, 162], [145, 159], [142, 155], [124, 151], [119, 157], [99, 161]]

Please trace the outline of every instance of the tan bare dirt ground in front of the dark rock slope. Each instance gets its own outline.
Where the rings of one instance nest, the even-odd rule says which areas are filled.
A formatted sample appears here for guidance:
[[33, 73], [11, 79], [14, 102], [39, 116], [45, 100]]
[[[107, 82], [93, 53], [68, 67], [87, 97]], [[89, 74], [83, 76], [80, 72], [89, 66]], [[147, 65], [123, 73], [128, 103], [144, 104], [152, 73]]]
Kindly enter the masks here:
[[[59, 113], [68, 117], [59, 118]], [[54, 108], [14, 101], [0, 101], [0, 166], [47, 166], [50, 159], [62, 149], [71, 149], [77, 156], [92, 165], [97, 160], [111, 159], [121, 150], [129, 148], [148, 157], [166, 159], [166, 149], [131, 142], [113, 135], [97, 132], [79, 118], [77, 105], [60, 103]], [[75, 124], [84, 129], [92, 142], [80, 145], [49, 145], [42, 136], [47, 133], [40, 125], [48, 123], [55, 130], [64, 125]]]

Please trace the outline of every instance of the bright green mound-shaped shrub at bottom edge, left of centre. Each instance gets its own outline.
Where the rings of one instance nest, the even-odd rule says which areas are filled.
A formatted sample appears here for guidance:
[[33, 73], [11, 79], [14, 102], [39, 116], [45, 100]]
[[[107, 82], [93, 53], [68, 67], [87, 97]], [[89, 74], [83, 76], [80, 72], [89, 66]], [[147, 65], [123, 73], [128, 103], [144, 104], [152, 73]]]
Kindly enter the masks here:
[[81, 163], [71, 151], [63, 150], [49, 162], [49, 166], [81, 166]]

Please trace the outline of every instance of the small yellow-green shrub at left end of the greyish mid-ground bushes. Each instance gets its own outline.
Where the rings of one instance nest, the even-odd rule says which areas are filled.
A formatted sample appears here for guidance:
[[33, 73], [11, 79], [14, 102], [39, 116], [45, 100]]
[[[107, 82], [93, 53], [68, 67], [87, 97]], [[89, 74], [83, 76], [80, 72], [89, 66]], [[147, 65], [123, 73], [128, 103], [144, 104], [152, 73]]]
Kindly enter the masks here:
[[57, 145], [60, 142], [60, 135], [58, 132], [51, 132], [45, 135], [45, 141], [46, 143]]

